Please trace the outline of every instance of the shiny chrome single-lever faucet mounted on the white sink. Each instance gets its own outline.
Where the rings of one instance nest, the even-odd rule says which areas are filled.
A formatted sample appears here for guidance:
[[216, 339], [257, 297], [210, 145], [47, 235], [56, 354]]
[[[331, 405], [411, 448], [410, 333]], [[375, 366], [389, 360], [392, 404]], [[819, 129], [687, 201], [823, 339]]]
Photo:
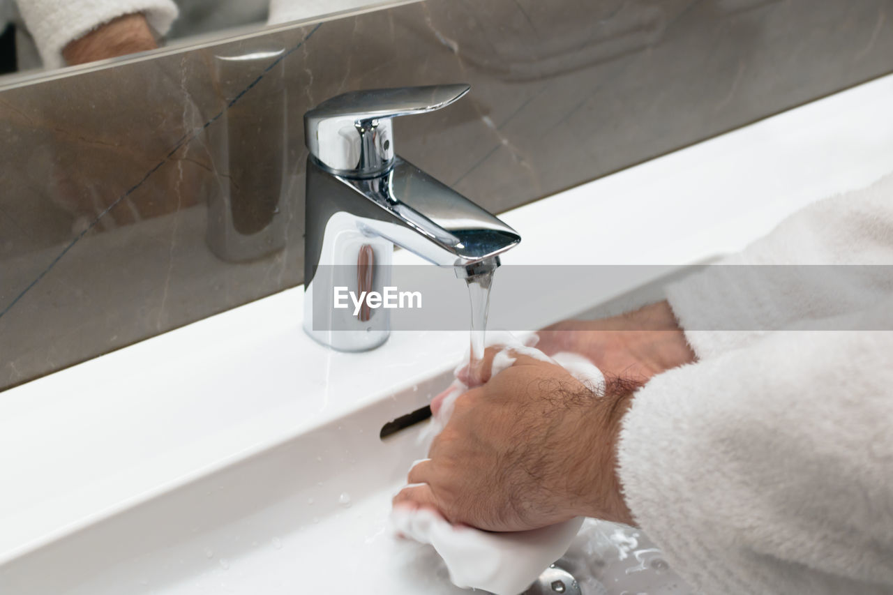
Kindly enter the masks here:
[[468, 85], [386, 88], [332, 97], [304, 114], [307, 148], [305, 316], [307, 333], [331, 348], [378, 347], [388, 309], [335, 306], [388, 285], [394, 244], [457, 277], [493, 271], [521, 236], [493, 214], [395, 153], [393, 118], [452, 104]]

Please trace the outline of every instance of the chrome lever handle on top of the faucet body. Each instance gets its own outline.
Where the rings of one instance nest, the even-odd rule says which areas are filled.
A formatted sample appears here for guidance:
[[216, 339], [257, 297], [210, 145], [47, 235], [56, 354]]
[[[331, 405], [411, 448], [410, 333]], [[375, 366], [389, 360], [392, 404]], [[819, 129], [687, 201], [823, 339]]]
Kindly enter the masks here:
[[307, 148], [338, 175], [380, 175], [394, 162], [393, 118], [446, 107], [470, 88], [466, 84], [379, 88], [331, 97], [304, 114]]

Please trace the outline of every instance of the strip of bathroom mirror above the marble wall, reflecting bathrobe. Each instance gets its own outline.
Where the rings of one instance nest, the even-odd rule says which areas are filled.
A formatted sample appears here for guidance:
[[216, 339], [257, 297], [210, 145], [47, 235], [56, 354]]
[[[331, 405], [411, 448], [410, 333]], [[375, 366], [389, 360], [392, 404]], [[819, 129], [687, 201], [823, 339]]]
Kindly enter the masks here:
[[[0, 77], [195, 46], [406, 0], [0, 0]], [[0, 83], [3, 79], [0, 78]]]

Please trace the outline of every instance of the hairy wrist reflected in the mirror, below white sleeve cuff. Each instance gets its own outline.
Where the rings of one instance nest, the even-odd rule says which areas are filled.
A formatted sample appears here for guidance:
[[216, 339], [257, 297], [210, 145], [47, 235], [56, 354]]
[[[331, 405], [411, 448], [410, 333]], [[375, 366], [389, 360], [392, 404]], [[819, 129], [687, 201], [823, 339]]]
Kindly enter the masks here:
[[126, 14], [100, 25], [65, 46], [62, 54], [65, 62], [73, 65], [136, 54], [156, 47], [158, 44], [146, 17], [137, 13]]

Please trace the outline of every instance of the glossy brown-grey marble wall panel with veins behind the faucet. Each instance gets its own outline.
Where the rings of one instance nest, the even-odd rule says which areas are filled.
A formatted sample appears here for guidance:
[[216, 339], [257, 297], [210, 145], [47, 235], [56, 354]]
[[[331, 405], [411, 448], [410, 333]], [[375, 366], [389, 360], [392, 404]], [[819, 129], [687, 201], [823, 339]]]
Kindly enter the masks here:
[[498, 213], [893, 71], [891, 15], [429, 0], [0, 79], [0, 390], [301, 283], [301, 118], [330, 96], [471, 83], [396, 147]]

